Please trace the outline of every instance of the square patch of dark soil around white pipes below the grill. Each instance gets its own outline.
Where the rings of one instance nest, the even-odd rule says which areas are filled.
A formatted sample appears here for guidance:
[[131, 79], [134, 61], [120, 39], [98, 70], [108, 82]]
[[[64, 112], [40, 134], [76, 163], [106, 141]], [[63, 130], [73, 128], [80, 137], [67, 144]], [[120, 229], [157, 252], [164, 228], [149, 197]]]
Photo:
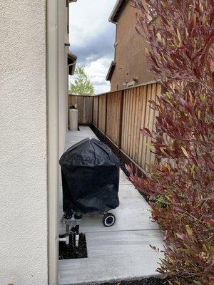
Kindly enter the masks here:
[[[58, 259], [82, 259], [88, 257], [85, 234], [79, 234], [78, 249], [73, 247], [74, 235], [69, 234], [70, 242], [58, 242]], [[59, 237], [65, 237], [61, 235]]]

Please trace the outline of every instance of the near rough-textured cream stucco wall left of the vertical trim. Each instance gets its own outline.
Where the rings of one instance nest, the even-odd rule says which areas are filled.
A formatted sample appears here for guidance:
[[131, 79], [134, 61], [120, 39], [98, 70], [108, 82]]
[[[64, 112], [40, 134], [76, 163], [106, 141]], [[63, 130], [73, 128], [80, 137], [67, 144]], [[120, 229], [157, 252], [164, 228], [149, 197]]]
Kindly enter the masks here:
[[46, 1], [0, 9], [0, 284], [48, 284]]

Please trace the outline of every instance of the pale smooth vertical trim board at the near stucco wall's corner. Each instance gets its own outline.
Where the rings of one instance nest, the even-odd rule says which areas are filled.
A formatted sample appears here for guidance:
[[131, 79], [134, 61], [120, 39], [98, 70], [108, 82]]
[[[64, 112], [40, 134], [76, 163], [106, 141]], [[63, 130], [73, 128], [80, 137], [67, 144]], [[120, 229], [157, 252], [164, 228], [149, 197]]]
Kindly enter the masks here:
[[58, 284], [58, 0], [46, 0], [49, 285]]

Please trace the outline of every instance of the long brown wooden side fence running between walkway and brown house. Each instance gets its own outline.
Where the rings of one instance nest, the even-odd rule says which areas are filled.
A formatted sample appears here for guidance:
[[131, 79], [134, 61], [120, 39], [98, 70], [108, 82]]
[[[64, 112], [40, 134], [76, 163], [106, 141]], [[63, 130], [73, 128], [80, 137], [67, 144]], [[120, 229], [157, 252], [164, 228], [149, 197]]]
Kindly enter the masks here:
[[93, 125], [141, 170], [155, 159], [151, 138], [142, 135], [140, 129], [155, 128], [156, 112], [149, 101], [160, 93], [161, 86], [150, 83], [93, 98]]

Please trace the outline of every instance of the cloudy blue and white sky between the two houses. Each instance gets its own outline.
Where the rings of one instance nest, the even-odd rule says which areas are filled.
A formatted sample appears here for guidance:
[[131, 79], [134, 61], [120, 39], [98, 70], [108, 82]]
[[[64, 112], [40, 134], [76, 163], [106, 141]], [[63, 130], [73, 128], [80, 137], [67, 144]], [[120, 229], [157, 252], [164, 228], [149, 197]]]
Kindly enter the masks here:
[[85, 66], [96, 94], [110, 90], [106, 75], [114, 57], [116, 26], [108, 18], [115, 4], [116, 0], [70, 4], [70, 50], [78, 56], [77, 63]]

